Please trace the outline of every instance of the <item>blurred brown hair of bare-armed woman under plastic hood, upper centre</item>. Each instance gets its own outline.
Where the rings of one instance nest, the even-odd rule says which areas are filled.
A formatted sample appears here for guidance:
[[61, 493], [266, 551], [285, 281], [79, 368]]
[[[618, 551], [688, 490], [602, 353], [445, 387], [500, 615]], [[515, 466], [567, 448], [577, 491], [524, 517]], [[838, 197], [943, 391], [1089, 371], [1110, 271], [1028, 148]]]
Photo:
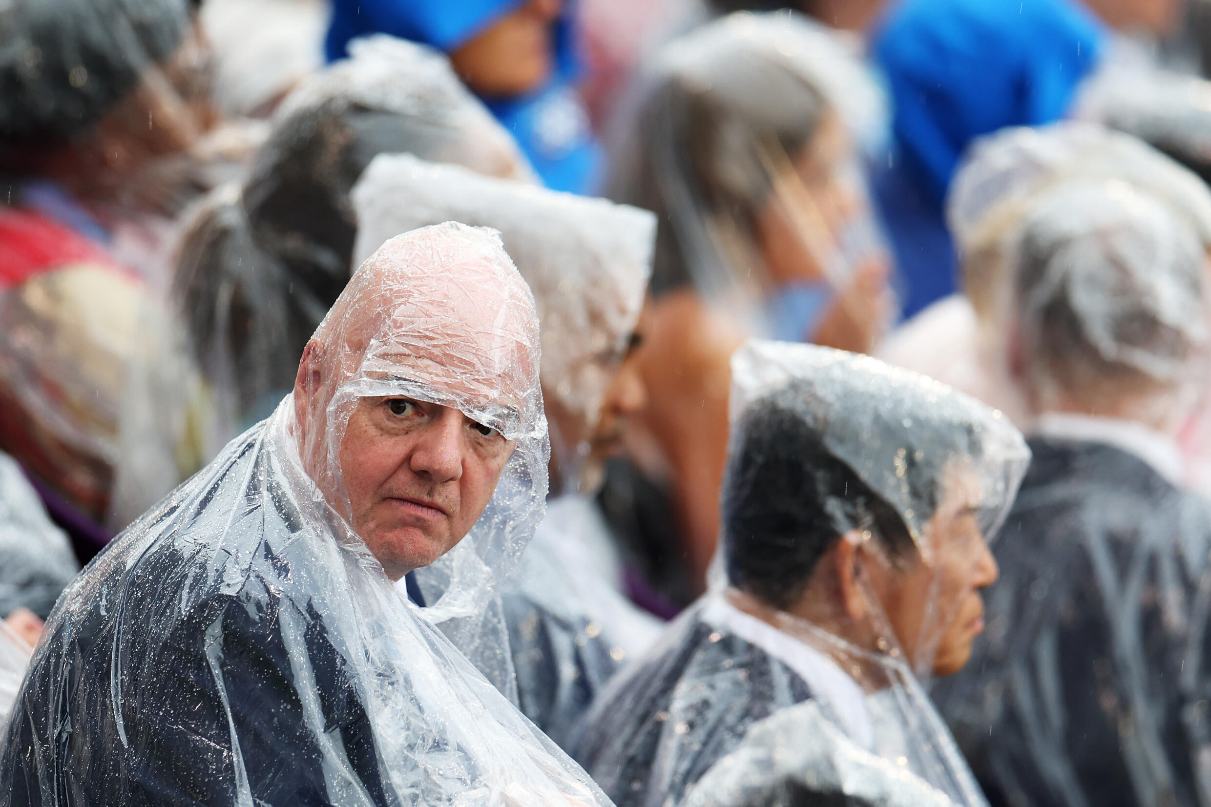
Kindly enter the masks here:
[[[693, 34], [690, 34], [693, 36]], [[691, 44], [696, 45], [696, 44]], [[693, 236], [682, 209], [728, 217], [752, 232], [769, 197], [761, 149], [799, 155], [828, 104], [802, 75], [744, 41], [711, 41], [678, 68], [648, 77], [624, 136], [610, 197], [653, 211], [660, 221], [652, 292], [691, 282]], [[672, 190], [668, 178], [683, 189]], [[684, 192], [684, 196], [679, 191]]]

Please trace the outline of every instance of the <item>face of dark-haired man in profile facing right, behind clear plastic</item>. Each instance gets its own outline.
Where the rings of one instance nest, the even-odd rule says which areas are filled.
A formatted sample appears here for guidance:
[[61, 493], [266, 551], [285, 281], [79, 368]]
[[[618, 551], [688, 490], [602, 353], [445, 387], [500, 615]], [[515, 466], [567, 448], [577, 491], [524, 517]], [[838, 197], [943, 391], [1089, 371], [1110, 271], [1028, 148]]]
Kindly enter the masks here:
[[[888, 621], [914, 669], [953, 675], [971, 657], [971, 642], [985, 628], [980, 590], [999, 570], [980, 530], [974, 480], [953, 478], [947, 496], [926, 525], [931, 557], [916, 557], [891, 578], [883, 599]], [[932, 652], [932, 659], [925, 658]]]

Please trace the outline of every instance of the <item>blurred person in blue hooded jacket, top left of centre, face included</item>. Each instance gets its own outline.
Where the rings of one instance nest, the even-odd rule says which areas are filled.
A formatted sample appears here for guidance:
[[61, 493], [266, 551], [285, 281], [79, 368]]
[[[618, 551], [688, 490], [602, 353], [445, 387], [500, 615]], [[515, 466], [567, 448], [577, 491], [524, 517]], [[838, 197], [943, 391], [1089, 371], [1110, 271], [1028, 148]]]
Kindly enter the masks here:
[[374, 33], [447, 53], [549, 188], [596, 188], [602, 151], [574, 87], [579, 63], [564, 0], [333, 0], [328, 60]]

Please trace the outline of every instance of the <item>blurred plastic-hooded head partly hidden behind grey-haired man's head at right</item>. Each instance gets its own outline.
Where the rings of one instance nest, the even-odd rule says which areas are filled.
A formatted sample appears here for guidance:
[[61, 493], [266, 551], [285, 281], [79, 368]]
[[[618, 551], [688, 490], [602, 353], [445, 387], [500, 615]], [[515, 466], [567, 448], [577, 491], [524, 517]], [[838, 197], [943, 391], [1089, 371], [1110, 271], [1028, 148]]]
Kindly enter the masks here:
[[972, 146], [947, 198], [963, 289], [989, 334], [1015, 328], [1012, 243], [1032, 204], [1057, 184], [1117, 179], [1163, 201], [1211, 248], [1211, 191], [1133, 137], [1094, 123], [1012, 128]]

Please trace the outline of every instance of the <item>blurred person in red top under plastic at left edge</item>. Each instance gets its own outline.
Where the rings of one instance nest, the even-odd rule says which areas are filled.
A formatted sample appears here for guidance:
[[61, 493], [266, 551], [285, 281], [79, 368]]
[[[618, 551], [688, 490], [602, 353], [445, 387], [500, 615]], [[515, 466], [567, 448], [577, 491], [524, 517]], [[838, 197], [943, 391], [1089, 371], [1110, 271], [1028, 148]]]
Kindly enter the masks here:
[[160, 294], [176, 213], [237, 169], [207, 64], [185, 0], [0, 8], [0, 448], [81, 560], [202, 465]]

